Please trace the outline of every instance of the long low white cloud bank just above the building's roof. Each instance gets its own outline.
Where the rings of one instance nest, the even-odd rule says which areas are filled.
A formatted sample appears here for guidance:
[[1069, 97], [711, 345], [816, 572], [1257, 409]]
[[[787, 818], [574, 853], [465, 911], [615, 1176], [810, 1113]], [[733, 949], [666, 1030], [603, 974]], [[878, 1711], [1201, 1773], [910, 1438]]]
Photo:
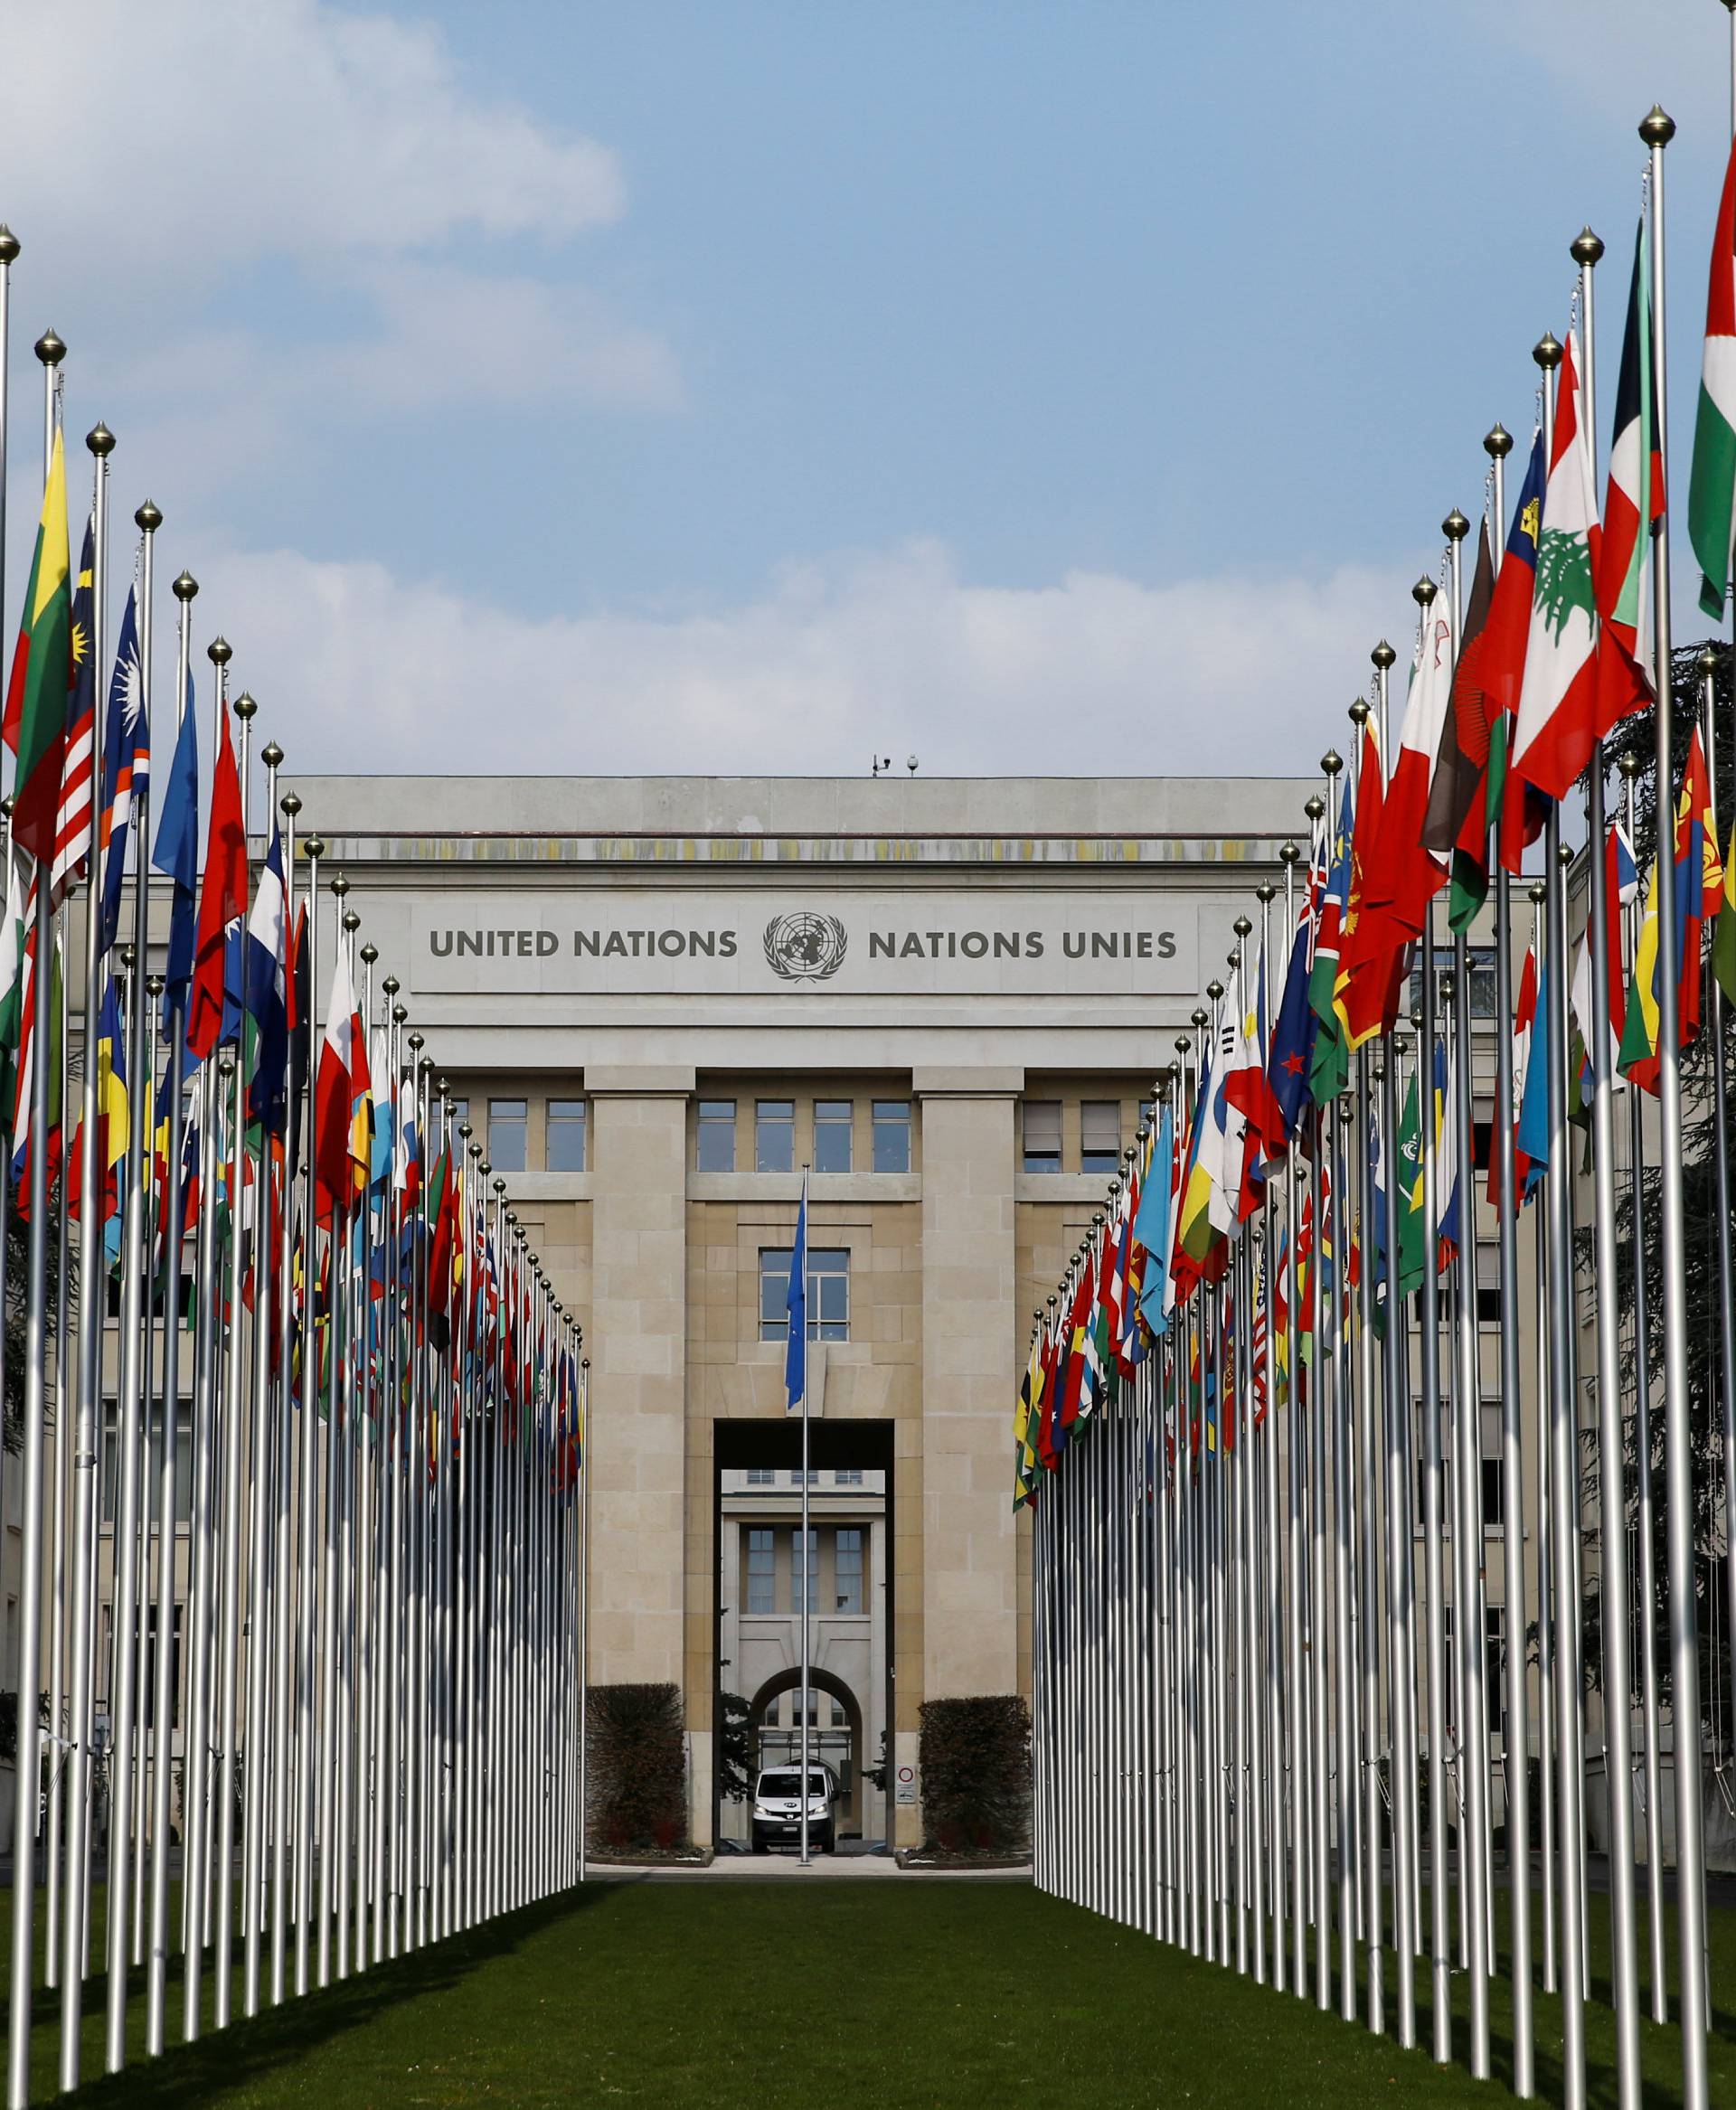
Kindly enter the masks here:
[[295, 553], [205, 582], [297, 772], [854, 774], [913, 749], [930, 774], [1274, 774], [1344, 747], [1369, 644], [1403, 622], [1392, 576], [1025, 591], [918, 542], [791, 565], [738, 608], [546, 620]]

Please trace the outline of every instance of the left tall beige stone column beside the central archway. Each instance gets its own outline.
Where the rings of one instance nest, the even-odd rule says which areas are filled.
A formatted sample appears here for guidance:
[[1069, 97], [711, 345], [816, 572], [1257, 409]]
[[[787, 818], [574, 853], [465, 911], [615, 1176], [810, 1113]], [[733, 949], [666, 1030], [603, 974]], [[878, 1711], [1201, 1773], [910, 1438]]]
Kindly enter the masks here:
[[681, 1684], [688, 1095], [681, 1068], [593, 1068], [591, 1682]]

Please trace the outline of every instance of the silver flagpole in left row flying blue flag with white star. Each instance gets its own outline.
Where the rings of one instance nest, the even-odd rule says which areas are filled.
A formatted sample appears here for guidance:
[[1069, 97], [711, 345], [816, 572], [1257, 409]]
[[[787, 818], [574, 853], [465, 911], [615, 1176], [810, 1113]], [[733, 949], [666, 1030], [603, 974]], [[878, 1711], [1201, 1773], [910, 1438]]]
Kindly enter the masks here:
[[[2, 344], [2, 340], [0, 340]], [[162, 515], [146, 500], [133, 515], [139, 525], [139, 692], [135, 707], [150, 726], [152, 682], [152, 574], [156, 557], [156, 530]], [[143, 1846], [141, 1804], [131, 1789], [146, 1777], [146, 1737], [139, 1713], [139, 1690], [143, 1658], [133, 1648], [133, 1633], [139, 1629], [139, 1526], [143, 1492], [143, 1414], [141, 1403], [150, 1376], [150, 1308], [146, 1289], [146, 1209], [148, 1209], [148, 1165], [146, 1135], [152, 1125], [150, 1091], [150, 1047], [154, 1036], [146, 1032], [146, 935], [150, 916], [150, 781], [133, 781], [127, 827], [133, 842], [133, 943], [131, 983], [127, 1002], [127, 1089], [135, 1114], [129, 1118], [127, 1160], [122, 1192], [127, 1207], [124, 1262], [120, 1272], [120, 1460], [118, 1500], [114, 1507], [114, 1620], [110, 1625], [114, 1648], [114, 1777], [110, 1785], [110, 1840], [108, 1840], [108, 2021], [105, 2021], [105, 2066], [118, 2074], [127, 2064], [127, 1922], [129, 1884], [133, 1878], [133, 1844]], [[131, 1768], [131, 1775], [122, 1772]], [[131, 1812], [131, 1827], [122, 1812]], [[131, 1829], [131, 1838], [129, 1838]]]

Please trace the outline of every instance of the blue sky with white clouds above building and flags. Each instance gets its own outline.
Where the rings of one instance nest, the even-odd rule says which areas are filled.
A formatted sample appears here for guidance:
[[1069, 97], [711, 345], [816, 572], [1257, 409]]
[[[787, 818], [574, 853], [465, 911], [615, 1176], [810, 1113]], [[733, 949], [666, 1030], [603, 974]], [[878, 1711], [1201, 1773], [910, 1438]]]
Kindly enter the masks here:
[[150, 496], [295, 772], [1306, 772], [1483, 433], [1529, 437], [1582, 224], [1614, 397], [1654, 99], [1685, 496], [1728, 40], [1721, 0], [13, 11], [6, 631], [53, 323], [118, 591]]

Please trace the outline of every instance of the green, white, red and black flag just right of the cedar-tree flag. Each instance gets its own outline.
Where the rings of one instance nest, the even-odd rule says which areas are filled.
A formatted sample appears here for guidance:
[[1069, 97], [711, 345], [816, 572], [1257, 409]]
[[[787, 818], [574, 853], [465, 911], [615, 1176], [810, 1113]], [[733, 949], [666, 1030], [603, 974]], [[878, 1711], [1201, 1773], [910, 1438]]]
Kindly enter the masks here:
[[1597, 736], [1652, 703], [1652, 523], [1664, 513], [1658, 399], [1652, 380], [1652, 272], [1645, 222], [1633, 251], [1616, 424], [1597, 553]]

